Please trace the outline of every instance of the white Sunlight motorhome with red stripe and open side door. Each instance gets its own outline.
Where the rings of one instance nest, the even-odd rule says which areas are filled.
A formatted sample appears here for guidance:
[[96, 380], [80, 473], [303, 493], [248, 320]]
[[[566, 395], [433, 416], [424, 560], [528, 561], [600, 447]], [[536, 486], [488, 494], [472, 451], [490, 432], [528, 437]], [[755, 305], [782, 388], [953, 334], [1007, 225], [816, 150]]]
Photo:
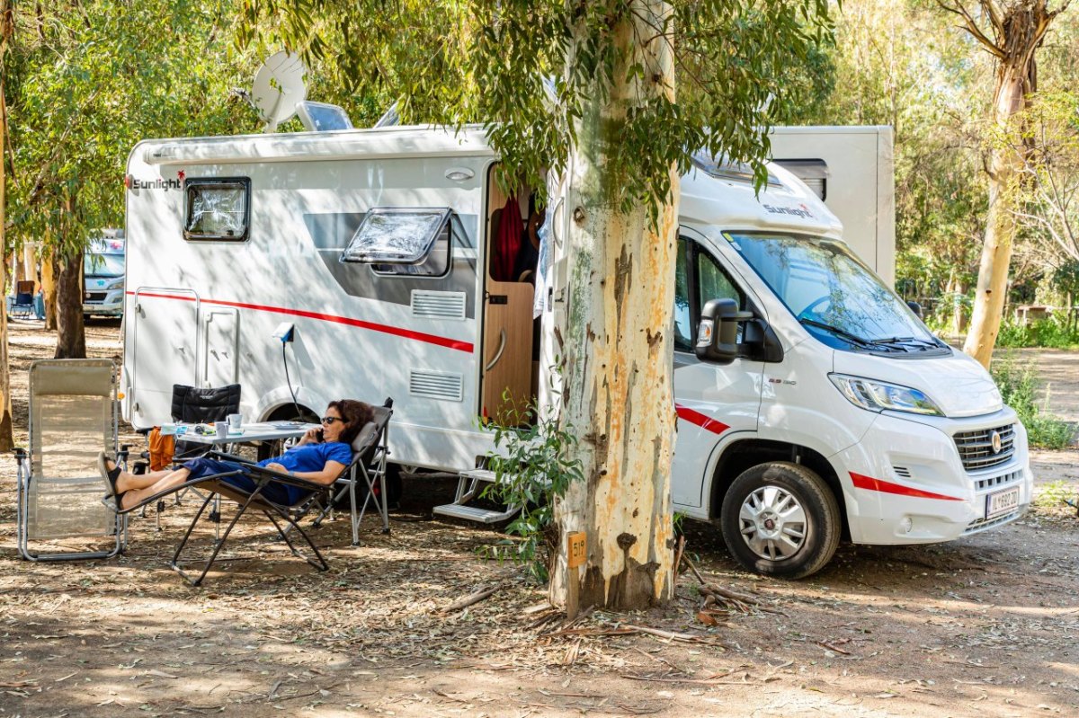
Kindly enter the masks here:
[[[492, 239], [506, 211], [525, 211], [523, 194], [498, 190], [496, 162], [478, 128], [140, 142], [124, 417], [166, 420], [173, 384], [240, 382], [260, 420], [391, 396], [395, 461], [478, 481], [469, 470], [492, 448], [478, 417], [497, 417], [505, 391], [534, 396], [543, 348], [533, 286], [506, 274]], [[841, 534], [946, 541], [1023, 513], [1014, 412], [850, 252], [804, 183], [770, 166], [756, 196], [743, 171], [698, 158], [681, 202], [677, 510], [718, 520], [746, 566], [789, 577], [820, 568]], [[555, 259], [536, 321], [560, 310]], [[737, 341], [734, 361], [695, 344], [702, 319]], [[504, 515], [467, 506], [464, 485], [443, 513]]]

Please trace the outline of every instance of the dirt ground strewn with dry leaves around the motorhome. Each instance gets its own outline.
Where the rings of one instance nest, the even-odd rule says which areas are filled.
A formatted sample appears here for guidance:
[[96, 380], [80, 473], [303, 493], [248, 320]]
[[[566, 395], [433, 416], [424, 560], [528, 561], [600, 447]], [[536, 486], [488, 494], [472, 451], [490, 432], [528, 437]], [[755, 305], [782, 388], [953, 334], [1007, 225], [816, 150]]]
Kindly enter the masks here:
[[[119, 358], [114, 325], [87, 334], [91, 354]], [[15, 322], [11, 342], [25, 438], [26, 369], [52, 340]], [[1028, 354], [1054, 410], [1079, 420], [1079, 355]], [[191, 589], [168, 558], [194, 501], [169, 506], [160, 533], [134, 520], [119, 558], [19, 561], [4, 459], [0, 717], [1076, 716], [1079, 520], [1058, 499], [1079, 489], [1079, 462], [1038, 452], [1034, 467], [1039, 502], [1019, 523], [942, 546], [844, 546], [801, 582], [739, 570], [687, 522], [705, 578], [759, 606], [706, 625], [685, 574], [667, 608], [564, 631], [517, 568], [478, 556], [496, 534], [432, 520], [448, 479], [407, 480], [388, 536], [368, 519], [354, 548], [346, 521], [326, 524], [326, 572], [245, 520], [231, 560]]]

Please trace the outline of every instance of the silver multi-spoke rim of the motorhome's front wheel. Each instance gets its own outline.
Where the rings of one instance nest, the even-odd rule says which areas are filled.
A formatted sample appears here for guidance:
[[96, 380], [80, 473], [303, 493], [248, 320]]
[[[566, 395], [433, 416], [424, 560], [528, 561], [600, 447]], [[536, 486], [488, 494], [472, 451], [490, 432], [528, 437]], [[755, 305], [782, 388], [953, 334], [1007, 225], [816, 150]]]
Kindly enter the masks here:
[[808, 519], [790, 492], [762, 486], [738, 510], [739, 533], [750, 551], [768, 561], [783, 561], [805, 544]]

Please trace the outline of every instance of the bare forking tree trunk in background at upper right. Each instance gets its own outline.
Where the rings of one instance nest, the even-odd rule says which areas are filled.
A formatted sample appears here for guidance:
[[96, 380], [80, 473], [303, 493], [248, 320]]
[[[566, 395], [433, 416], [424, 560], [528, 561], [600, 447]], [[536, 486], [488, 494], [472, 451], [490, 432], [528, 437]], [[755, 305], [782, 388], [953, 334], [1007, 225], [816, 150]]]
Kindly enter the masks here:
[[1048, 0], [979, 0], [979, 13], [968, 9], [962, 0], [938, 2], [962, 18], [964, 28], [997, 58], [992, 116], [996, 137], [988, 166], [989, 211], [978, 268], [974, 312], [962, 345], [964, 351], [988, 368], [1008, 294], [1008, 268], [1015, 237], [1015, 189], [1023, 169], [1022, 153], [1026, 150], [1017, 115], [1026, 107], [1027, 95], [1036, 89], [1035, 54], [1053, 18], [1070, 0], [1062, 0], [1053, 11], [1049, 10]]

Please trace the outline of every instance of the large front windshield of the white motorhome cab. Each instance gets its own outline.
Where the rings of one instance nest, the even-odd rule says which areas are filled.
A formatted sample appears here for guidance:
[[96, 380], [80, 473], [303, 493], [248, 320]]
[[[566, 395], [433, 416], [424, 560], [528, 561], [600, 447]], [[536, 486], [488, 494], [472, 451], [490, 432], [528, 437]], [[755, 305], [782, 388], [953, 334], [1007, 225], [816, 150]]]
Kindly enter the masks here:
[[828, 346], [884, 354], [950, 351], [842, 241], [750, 232], [726, 238]]

